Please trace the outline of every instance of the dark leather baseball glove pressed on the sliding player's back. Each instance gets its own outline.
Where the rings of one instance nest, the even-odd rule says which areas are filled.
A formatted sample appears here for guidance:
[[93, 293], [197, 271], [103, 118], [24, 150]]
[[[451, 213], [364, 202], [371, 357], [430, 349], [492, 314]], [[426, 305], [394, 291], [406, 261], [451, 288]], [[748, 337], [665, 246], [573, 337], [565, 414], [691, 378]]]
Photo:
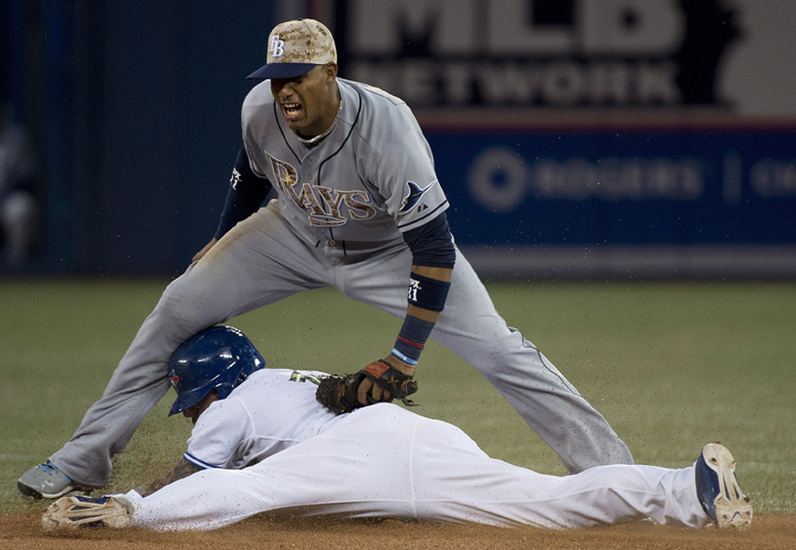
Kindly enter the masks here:
[[[356, 374], [331, 376], [323, 379], [315, 391], [315, 399], [335, 414], [352, 412], [354, 409], [365, 406], [357, 399], [357, 389], [366, 378], [387, 390], [390, 393], [390, 401], [400, 399], [406, 405], [415, 405], [407, 395], [418, 390], [417, 380], [384, 361], [374, 361]], [[376, 403], [370, 395], [367, 396], [367, 401], [369, 405]]]

